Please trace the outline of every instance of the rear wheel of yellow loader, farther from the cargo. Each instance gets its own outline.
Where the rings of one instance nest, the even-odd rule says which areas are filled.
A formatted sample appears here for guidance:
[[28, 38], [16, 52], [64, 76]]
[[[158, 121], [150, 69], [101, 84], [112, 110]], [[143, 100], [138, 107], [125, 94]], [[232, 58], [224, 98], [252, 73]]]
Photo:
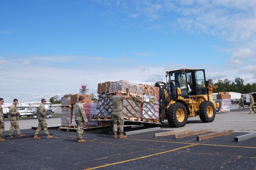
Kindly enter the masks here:
[[210, 101], [203, 101], [199, 106], [200, 119], [204, 123], [212, 122], [215, 118], [216, 110]]

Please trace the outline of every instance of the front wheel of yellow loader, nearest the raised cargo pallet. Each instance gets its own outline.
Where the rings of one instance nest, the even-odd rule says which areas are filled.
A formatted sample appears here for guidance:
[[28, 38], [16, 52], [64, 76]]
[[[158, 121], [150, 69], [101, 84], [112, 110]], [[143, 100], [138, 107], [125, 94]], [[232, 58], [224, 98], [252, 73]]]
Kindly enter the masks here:
[[173, 103], [168, 108], [167, 120], [171, 127], [183, 127], [188, 120], [186, 107], [181, 103]]

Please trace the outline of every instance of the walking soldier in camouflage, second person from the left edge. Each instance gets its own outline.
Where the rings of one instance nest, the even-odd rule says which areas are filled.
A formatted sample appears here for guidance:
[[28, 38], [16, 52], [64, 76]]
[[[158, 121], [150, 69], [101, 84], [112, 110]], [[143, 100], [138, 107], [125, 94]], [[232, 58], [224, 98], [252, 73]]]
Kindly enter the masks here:
[[19, 111], [17, 111], [17, 105], [18, 103], [18, 99], [13, 99], [13, 104], [10, 106], [9, 108], [9, 120], [11, 120], [11, 127], [10, 127], [10, 131], [9, 131], [9, 138], [13, 137], [13, 130], [15, 129], [17, 134], [19, 136], [25, 136], [22, 135], [21, 132], [19, 131], [19, 122], [18, 122], [18, 118], [17, 115], [19, 114]]

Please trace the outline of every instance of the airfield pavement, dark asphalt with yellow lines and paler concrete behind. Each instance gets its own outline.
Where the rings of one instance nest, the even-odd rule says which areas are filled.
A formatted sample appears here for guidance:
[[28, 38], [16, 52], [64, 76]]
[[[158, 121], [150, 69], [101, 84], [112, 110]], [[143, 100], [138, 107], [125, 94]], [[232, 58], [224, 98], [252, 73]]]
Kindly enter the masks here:
[[[255, 132], [256, 114], [238, 111], [233, 104], [230, 112], [218, 112], [212, 123], [202, 123], [199, 116], [188, 118], [185, 127], [171, 128], [168, 122], [161, 130], [128, 135], [126, 139], [113, 139], [106, 132], [85, 131], [85, 143], [76, 142], [76, 131], [49, 129], [54, 138], [34, 140], [33, 137], [8, 139], [0, 142], [0, 170], [63, 170], [63, 169], [256, 169], [256, 138], [234, 142], [234, 137]], [[48, 118], [48, 126], [60, 124], [61, 118]], [[4, 135], [8, 135], [9, 120], [5, 120]], [[34, 133], [37, 119], [19, 120], [22, 133]], [[133, 125], [140, 127], [140, 125]], [[191, 128], [192, 131], [211, 129], [235, 132], [202, 141], [198, 135], [174, 139], [173, 135], [154, 137], [155, 133]], [[16, 133], [14, 131], [14, 133]], [[43, 133], [43, 130], [41, 131]], [[207, 133], [208, 134], [208, 133]], [[204, 134], [202, 134], [204, 135]], [[32, 135], [33, 136], [33, 135]]]

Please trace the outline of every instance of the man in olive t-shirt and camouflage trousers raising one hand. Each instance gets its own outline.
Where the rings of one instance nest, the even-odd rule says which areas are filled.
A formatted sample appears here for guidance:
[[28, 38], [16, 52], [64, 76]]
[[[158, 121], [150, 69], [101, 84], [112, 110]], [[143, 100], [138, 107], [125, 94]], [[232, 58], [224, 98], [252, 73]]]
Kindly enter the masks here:
[[124, 136], [124, 113], [123, 113], [123, 100], [130, 98], [129, 90], [126, 88], [126, 96], [123, 96], [121, 91], [118, 90], [116, 92], [116, 95], [113, 96], [113, 108], [112, 108], [112, 117], [113, 117], [113, 132], [114, 132], [114, 139], [117, 138], [117, 127], [119, 125], [119, 138], [127, 138], [127, 136]]

